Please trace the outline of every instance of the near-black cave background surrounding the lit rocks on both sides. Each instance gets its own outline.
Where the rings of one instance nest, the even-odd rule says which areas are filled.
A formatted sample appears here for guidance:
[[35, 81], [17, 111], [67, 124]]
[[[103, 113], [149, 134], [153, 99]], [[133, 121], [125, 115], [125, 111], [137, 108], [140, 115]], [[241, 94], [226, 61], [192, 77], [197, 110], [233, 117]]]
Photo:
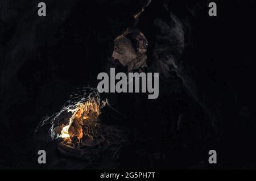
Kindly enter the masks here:
[[[146, 5], [46, 0], [47, 16], [39, 17], [39, 2], [0, 1], [1, 169], [42, 167], [33, 141], [40, 120], [76, 87], [97, 85], [114, 39]], [[256, 3], [214, 1], [210, 17], [209, 2], [153, 0], [142, 13], [137, 27], [149, 42], [147, 64], [160, 74], [159, 98], [117, 95], [114, 105], [130, 120], [122, 125], [150, 138], [126, 145], [121, 168], [255, 168]], [[158, 69], [168, 56], [177, 67]], [[208, 163], [211, 149], [216, 165]]]

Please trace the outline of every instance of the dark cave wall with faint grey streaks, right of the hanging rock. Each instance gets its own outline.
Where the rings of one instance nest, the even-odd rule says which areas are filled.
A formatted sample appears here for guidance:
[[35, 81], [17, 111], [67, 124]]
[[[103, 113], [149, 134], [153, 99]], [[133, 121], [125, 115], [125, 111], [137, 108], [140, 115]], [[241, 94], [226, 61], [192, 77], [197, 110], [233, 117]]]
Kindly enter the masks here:
[[[205, 121], [214, 128], [213, 135], [217, 133], [214, 137], [219, 144], [222, 142], [220, 149], [230, 150], [225, 145], [229, 140], [236, 150], [234, 156], [242, 151], [237, 148], [238, 142], [245, 146], [254, 135], [252, 129], [250, 133], [243, 132], [249, 119], [242, 118], [237, 111], [243, 110], [241, 103], [252, 105], [255, 100], [250, 99], [255, 96], [251, 94], [254, 87], [249, 86], [253, 79], [248, 66], [255, 65], [252, 48], [255, 27], [251, 24], [255, 2], [217, 4], [218, 17], [212, 19], [206, 15], [208, 7], [200, 1], [190, 1], [185, 6], [183, 1], [154, 1], [141, 15], [138, 28], [149, 42], [148, 66], [159, 71], [164, 82], [169, 82], [170, 86], [162, 85], [162, 90], [174, 90], [175, 82], [180, 79], [181, 85], [204, 111]], [[232, 12], [228, 13], [230, 6]], [[244, 12], [242, 18], [236, 11]], [[255, 126], [253, 117], [250, 120]], [[242, 132], [245, 134], [241, 135]], [[246, 148], [255, 150], [250, 144]], [[225, 158], [232, 160], [232, 156], [224, 152]], [[250, 160], [247, 156], [243, 159]]]

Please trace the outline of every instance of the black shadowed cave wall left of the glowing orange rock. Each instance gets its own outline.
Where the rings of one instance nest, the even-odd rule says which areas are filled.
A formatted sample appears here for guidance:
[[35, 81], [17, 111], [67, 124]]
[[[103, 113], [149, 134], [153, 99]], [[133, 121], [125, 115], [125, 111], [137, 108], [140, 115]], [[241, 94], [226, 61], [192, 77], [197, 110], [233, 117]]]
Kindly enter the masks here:
[[[5, 127], [1, 135], [13, 135], [3, 140], [10, 145], [4, 153], [19, 150], [16, 142], [32, 136], [38, 124], [34, 120], [60, 110], [74, 87], [96, 85], [97, 74], [113, 53], [114, 39], [133, 25], [134, 14], [147, 4], [44, 2], [47, 16], [38, 17], [37, 2], [1, 1], [0, 112]], [[10, 158], [3, 165], [14, 165], [15, 160]]]

